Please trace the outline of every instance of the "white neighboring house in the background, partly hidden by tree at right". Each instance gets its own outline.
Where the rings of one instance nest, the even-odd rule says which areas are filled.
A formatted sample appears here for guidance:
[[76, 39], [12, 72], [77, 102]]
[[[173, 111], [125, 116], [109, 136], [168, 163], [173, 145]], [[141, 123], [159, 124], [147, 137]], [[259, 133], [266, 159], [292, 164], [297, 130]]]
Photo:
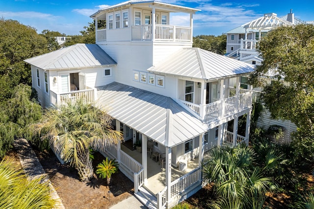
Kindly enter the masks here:
[[[226, 56], [253, 65], [262, 64], [262, 56], [256, 49], [259, 40], [267, 35], [267, 32], [278, 26], [293, 26], [297, 24], [313, 24], [314, 21], [301, 21], [294, 17], [292, 10], [288, 15], [279, 18], [275, 13], [264, 14], [261, 18], [250, 21], [226, 32], [227, 47]], [[267, 75], [267, 82], [272, 80], [272, 76]], [[254, 89], [261, 91], [261, 89]], [[265, 110], [258, 121], [258, 126], [268, 129], [269, 126], [282, 126], [285, 130], [284, 140], [290, 141], [290, 134], [296, 131], [296, 126], [290, 121], [273, 120], [270, 113]]]

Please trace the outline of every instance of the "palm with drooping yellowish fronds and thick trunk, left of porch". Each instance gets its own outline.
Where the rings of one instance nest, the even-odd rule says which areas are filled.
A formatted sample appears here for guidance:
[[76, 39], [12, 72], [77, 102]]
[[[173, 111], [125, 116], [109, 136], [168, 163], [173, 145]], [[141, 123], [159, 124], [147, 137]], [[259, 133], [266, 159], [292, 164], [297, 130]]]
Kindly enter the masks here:
[[77, 169], [79, 179], [88, 181], [94, 173], [89, 148], [104, 151], [121, 139], [121, 132], [112, 129], [111, 121], [105, 111], [80, 100], [47, 109], [30, 130], [49, 140], [54, 152]]

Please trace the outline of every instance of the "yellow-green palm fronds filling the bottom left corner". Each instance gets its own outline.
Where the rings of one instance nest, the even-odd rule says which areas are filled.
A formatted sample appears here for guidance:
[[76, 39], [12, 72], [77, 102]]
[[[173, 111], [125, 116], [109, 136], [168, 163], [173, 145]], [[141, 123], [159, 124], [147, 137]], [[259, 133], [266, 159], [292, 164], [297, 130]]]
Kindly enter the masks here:
[[0, 161], [0, 208], [52, 209], [57, 208], [51, 197], [48, 181], [42, 178], [27, 180], [23, 170], [13, 163]]

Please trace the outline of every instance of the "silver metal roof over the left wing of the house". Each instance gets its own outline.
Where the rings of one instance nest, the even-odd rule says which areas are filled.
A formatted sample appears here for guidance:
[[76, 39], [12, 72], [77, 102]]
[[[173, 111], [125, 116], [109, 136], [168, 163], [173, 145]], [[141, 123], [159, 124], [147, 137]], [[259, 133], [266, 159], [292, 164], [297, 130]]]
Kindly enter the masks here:
[[85, 68], [117, 64], [96, 44], [75, 44], [24, 61], [44, 70]]

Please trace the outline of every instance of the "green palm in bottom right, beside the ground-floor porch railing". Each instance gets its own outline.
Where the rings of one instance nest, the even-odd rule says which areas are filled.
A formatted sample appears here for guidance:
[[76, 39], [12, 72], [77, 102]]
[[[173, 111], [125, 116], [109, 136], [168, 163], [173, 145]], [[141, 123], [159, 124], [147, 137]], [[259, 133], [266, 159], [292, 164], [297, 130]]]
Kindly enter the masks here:
[[262, 208], [270, 178], [254, 168], [254, 151], [239, 145], [215, 147], [204, 164], [204, 178], [214, 183], [211, 208]]

